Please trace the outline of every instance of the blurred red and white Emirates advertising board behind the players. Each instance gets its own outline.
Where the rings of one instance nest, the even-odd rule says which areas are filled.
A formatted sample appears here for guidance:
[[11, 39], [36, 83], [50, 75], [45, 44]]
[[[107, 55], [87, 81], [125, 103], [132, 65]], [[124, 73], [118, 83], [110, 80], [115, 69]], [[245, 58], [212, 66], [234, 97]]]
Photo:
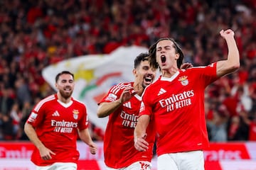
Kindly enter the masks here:
[[[80, 152], [78, 170], [105, 169], [103, 142], [96, 142], [95, 155], [90, 154], [84, 142], [78, 141], [77, 145]], [[30, 161], [33, 148], [31, 142], [0, 142], [0, 170], [35, 169]], [[256, 170], [256, 142], [210, 143], [203, 154], [206, 170]], [[156, 159], [154, 156], [152, 170], [156, 170]]]

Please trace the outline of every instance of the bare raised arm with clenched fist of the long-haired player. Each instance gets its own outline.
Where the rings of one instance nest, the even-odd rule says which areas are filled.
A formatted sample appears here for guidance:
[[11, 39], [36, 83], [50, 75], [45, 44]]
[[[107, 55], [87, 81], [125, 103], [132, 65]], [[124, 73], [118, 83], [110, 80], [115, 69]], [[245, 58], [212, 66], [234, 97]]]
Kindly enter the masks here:
[[220, 30], [220, 36], [228, 45], [228, 59], [217, 62], [217, 76], [223, 77], [225, 74], [235, 72], [240, 67], [240, 57], [233, 30]]

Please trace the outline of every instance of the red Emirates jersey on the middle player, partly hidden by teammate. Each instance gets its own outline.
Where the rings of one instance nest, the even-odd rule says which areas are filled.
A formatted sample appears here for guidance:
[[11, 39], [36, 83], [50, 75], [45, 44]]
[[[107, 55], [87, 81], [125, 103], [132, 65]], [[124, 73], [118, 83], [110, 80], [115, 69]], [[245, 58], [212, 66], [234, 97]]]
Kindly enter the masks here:
[[[112, 86], [100, 103], [116, 101], [120, 98], [122, 91], [133, 84], [130, 82]], [[135, 94], [109, 116], [104, 136], [104, 157], [105, 164], [111, 168], [124, 168], [138, 161], [151, 162], [155, 134], [150, 132], [154, 130], [152, 125], [147, 129], [146, 139], [150, 143], [148, 151], [139, 152], [134, 147], [134, 128], [137, 125], [141, 101], [142, 98]]]

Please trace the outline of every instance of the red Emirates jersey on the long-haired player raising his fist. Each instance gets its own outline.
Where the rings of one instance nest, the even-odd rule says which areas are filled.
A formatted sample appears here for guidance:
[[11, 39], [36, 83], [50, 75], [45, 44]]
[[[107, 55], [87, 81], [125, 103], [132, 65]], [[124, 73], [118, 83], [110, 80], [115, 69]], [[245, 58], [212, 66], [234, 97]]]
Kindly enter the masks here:
[[208, 147], [204, 91], [216, 79], [213, 63], [178, 70], [171, 78], [159, 77], [146, 87], [139, 114], [154, 115], [158, 156]]

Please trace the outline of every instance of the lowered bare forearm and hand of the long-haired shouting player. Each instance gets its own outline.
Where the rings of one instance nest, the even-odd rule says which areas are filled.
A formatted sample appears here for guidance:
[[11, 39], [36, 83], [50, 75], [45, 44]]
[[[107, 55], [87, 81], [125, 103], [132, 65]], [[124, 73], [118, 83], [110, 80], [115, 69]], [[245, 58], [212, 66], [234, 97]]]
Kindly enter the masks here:
[[134, 129], [134, 147], [139, 151], [149, 149], [149, 143], [146, 142], [146, 128], [149, 125], [149, 115], [141, 115]]

